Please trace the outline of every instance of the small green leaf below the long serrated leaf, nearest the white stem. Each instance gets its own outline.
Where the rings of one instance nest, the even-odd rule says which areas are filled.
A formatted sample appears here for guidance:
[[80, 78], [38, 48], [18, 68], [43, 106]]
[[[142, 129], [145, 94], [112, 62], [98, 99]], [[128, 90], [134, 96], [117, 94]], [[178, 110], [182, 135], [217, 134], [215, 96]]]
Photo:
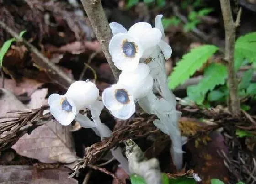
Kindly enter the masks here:
[[204, 94], [198, 90], [197, 85], [187, 87], [187, 96], [190, 100], [194, 101], [198, 105], [203, 104]]

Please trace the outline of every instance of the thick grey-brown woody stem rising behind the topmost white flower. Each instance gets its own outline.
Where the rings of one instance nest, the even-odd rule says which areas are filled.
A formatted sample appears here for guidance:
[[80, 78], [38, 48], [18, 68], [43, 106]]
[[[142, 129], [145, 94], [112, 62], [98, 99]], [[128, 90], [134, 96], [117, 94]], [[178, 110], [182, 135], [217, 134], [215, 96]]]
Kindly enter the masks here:
[[95, 35], [101, 44], [102, 51], [114, 74], [114, 77], [116, 81], [118, 81], [120, 71], [114, 65], [112, 61], [112, 57], [108, 52], [108, 44], [113, 35], [110, 30], [103, 7], [101, 5], [101, 1], [100, 0], [81, 0], [81, 2], [91, 22], [91, 26], [95, 32]]

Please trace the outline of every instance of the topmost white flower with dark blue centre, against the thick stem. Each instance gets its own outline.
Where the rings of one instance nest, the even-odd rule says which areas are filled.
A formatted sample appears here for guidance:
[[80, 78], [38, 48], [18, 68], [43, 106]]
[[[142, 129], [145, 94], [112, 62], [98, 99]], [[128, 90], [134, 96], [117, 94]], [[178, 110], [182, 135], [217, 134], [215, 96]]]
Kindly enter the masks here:
[[109, 53], [114, 64], [122, 71], [133, 71], [137, 68], [144, 51], [157, 45], [162, 37], [159, 29], [149, 23], [138, 22], [128, 31], [117, 22], [110, 23], [113, 37], [109, 43]]

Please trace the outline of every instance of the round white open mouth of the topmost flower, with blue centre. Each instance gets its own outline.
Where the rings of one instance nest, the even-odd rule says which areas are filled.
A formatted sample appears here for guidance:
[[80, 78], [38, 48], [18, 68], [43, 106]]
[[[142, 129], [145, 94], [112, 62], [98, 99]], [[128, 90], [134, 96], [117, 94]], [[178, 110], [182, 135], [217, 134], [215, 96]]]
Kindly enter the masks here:
[[134, 70], [143, 53], [139, 41], [125, 33], [113, 36], [108, 47], [114, 64], [120, 70]]

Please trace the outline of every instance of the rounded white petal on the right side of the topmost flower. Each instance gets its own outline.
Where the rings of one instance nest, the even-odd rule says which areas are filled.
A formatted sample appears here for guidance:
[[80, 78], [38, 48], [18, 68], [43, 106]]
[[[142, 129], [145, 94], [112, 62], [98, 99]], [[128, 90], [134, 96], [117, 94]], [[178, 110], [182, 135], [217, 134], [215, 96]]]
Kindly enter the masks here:
[[157, 28], [152, 28], [148, 30], [147, 32], [144, 32], [143, 35], [139, 38], [139, 42], [144, 50], [154, 47], [157, 45], [162, 37], [162, 33]]

